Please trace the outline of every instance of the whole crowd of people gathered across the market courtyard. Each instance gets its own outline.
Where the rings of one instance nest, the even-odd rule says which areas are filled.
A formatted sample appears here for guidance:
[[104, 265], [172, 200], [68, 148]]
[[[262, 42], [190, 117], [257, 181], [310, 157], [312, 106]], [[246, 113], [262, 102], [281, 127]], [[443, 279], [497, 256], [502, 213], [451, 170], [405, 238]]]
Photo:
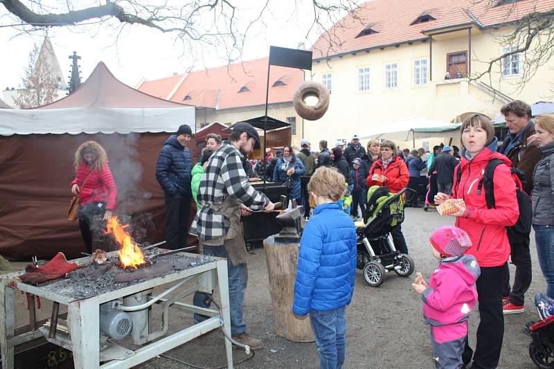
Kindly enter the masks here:
[[[456, 226], [441, 227], [430, 238], [431, 253], [439, 260], [436, 271], [443, 272], [434, 273], [429, 282], [418, 276], [412, 287], [422, 295], [437, 368], [495, 368], [503, 314], [524, 311], [531, 278], [531, 224], [546, 280], [542, 316], [554, 314], [554, 114], [532, 120], [529, 105], [521, 101], [510, 102], [501, 113], [509, 129], [502, 143], [490, 120], [473, 114], [461, 125], [462, 150], [437, 145], [432, 152], [400, 151], [392, 141], [377, 140], [364, 147], [355, 135], [346, 148], [337, 141], [330, 149], [322, 140], [314, 152], [304, 139], [300, 150], [287, 145], [258, 163], [247, 160], [260, 147], [258, 132], [248, 123], [237, 123], [225, 142], [218, 135], [208, 136], [194, 166], [186, 148], [190, 127], [183, 125], [163, 145], [156, 170], [166, 200], [168, 247], [186, 246], [188, 231], [198, 237], [202, 253], [227, 259], [231, 334], [254, 350], [262, 348], [262, 341], [247, 333], [242, 320], [248, 269], [240, 219], [274, 208], [248, 177], [285, 184], [289, 199], [305, 205], [307, 221], [292, 311], [310, 313], [321, 367], [341, 368], [345, 308], [352, 298], [357, 264], [353, 220], [367, 219], [368, 188], [385, 186], [396, 193], [408, 187], [406, 206], [420, 207], [422, 199], [425, 210], [456, 200], [449, 214], [456, 217]], [[91, 215], [110, 217], [117, 190], [107, 154], [94, 141], [75, 153], [75, 172], [71, 192], [80, 197], [79, 225], [90, 252]], [[524, 219], [526, 199], [532, 219]], [[187, 230], [192, 200], [198, 210]], [[391, 235], [396, 249], [408, 253], [400, 224]], [[516, 267], [512, 285], [510, 258]], [[480, 321], [472, 350], [467, 318], [476, 301]], [[211, 294], [197, 292], [194, 304], [209, 307]], [[204, 318], [195, 315], [197, 321]]]

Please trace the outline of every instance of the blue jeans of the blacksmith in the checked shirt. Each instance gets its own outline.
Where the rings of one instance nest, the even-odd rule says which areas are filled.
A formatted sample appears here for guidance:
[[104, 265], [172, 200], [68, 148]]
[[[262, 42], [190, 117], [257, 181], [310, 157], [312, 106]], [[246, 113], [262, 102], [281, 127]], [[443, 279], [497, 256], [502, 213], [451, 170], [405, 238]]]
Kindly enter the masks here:
[[[231, 264], [229, 254], [224, 246], [206, 246], [204, 247], [204, 255], [216, 256], [217, 258], [227, 259], [227, 274], [229, 278], [229, 310], [231, 313], [231, 335], [236, 336], [244, 333], [247, 330], [247, 325], [242, 321], [244, 313], [244, 290], [247, 288], [248, 282], [248, 266], [247, 264]], [[199, 307], [210, 307], [211, 304], [206, 304], [206, 297], [210, 294], [204, 292], [195, 292], [193, 304]], [[195, 321], [200, 322], [208, 317], [195, 314]]]

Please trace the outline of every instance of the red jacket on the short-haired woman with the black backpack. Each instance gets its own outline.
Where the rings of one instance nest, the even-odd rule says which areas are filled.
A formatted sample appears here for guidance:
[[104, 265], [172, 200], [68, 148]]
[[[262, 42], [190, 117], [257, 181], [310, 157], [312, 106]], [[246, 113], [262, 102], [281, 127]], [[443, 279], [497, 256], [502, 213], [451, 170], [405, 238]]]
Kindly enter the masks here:
[[[494, 170], [494, 202], [496, 208], [488, 209], [485, 187], [479, 191], [479, 181], [490, 159], [500, 159], [506, 165]], [[506, 227], [513, 226], [519, 217], [515, 181], [510, 171], [510, 159], [492, 152], [489, 148], [477, 154], [472, 161], [462, 155], [460, 183], [454, 179], [452, 195], [464, 199], [463, 217], [456, 218], [456, 226], [470, 235], [472, 246], [466, 254], [474, 255], [481, 267], [499, 267], [508, 261], [510, 243]], [[454, 173], [458, 171], [458, 167]], [[477, 192], [480, 192], [479, 194]]]

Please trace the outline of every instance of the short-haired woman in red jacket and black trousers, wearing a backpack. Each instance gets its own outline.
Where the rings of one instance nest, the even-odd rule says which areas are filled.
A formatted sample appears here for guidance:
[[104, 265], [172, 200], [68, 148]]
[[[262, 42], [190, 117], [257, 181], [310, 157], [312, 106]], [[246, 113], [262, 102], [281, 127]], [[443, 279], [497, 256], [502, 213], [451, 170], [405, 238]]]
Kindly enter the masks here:
[[[452, 196], [464, 199], [465, 208], [457, 206], [456, 226], [470, 235], [472, 246], [466, 254], [474, 255], [481, 276], [477, 279], [479, 295], [479, 329], [475, 354], [465, 343], [464, 362], [471, 360], [471, 368], [496, 368], [500, 358], [504, 334], [502, 292], [506, 280], [505, 264], [510, 256], [506, 227], [513, 226], [519, 217], [515, 181], [512, 179], [510, 160], [497, 153], [497, 138], [490, 120], [481, 114], [468, 116], [462, 123], [461, 136], [464, 149], [459, 167], [461, 179], [454, 179]], [[495, 208], [487, 208], [485, 190], [479, 182], [491, 159], [500, 159], [506, 165], [494, 170]], [[455, 173], [458, 171], [456, 167]], [[449, 196], [439, 192], [435, 204], [440, 205]], [[469, 368], [469, 366], [468, 366]]]

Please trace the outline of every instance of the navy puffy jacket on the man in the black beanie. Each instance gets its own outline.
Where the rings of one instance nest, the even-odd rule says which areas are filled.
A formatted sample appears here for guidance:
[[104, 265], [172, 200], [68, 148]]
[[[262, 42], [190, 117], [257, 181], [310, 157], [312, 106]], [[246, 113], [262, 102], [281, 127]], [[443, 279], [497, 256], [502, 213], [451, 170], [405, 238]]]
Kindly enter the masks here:
[[166, 195], [190, 197], [190, 170], [193, 159], [188, 148], [183, 147], [177, 136], [170, 136], [163, 144], [156, 163], [156, 179]]

